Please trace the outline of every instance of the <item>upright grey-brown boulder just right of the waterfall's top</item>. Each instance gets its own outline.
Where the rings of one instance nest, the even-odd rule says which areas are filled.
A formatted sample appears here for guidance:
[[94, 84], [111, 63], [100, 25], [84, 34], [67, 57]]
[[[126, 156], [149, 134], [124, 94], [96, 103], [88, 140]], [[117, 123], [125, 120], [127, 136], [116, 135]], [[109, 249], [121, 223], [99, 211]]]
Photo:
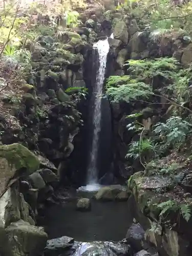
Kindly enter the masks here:
[[127, 45], [129, 33], [125, 22], [121, 21], [116, 24], [114, 28], [114, 38], [121, 40], [123, 44]]

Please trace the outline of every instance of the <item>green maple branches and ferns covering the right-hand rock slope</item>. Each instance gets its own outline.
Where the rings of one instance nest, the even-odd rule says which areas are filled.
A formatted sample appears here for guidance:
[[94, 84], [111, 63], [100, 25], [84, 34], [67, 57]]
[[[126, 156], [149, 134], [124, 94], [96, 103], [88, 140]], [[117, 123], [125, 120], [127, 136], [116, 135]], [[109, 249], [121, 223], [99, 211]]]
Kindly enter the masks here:
[[[144, 176], [168, 176], [172, 181], [169, 189], [177, 188], [182, 165], [160, 166], [158, 161], [172, 152], [179, 153], [191, 140], [191, 67], [183, 69], [176, 59], [167, 57], [129, 60], [125, 66], [127, 75], [111, 76], [105, 87], [112, 102], [126, 102], [132, 111], [137, 106], [126, 116], [129, 122], [126, 129], [133, 141], [127, 145], [125, 158], [132, 164], [133, 160], [138, 161]], [[154, 118], [156, 116], [158, 118]], [[166, 189], [157, 188], [154, 193], [161, 196], [166, 194]], [[183, 200], [178, 202], [173, 198], [156, 203], [159, 223], [164, 223], [170, 212], [175, 212], [177, 219], [182, 217], [188, 222], [191, 201], [188, 198]]]

